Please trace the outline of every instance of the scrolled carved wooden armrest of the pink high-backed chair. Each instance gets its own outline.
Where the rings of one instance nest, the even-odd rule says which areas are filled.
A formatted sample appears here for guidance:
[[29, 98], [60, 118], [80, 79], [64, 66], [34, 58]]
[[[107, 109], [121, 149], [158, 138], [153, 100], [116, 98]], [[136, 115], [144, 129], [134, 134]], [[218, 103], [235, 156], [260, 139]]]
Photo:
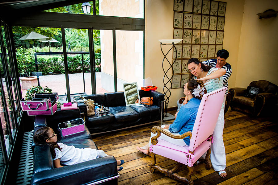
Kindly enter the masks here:
[[153, 126], [152, 128], [152, 133], [156, 134], [156, 136], [152, 137], [151, 138], [151, 143], [156, 145], [157, 144], [157, 138], [161, 135], [161, 133], [165, 134], [166, 136], [170, 137], [170, 138], [174, 138], [174, 139], [183, 139], [183, 138], [186, 138], [186, 137], [190, 137], [192, 136], [192, 132], [186, 132], [182, 135], [174, 135], [174, 134], [171, 134], [170, 132], [167, 132], [165, 130], [163, 130], [160, 126]]

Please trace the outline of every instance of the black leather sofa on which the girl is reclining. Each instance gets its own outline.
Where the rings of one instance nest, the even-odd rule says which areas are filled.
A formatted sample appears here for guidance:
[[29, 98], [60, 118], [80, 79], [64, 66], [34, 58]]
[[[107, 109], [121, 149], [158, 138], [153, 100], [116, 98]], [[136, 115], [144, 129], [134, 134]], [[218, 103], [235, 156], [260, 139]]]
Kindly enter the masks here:
[[[34, 134], [42, 126], [51, 127], [57, 134], [58, 141], [77, 148], [98, 149], [91, 140], [91, 134], [85, 126], [85, 131], [67, 137], [60, 137], [57, 124], [71, 119], [80, 118], [80, 110], [57, 110], [52, 116], [36, 116]], [[61, 168], [53, 167], [53, 158], [49, 146], [36, 146], [32, 142], [34, 152], [32, 185], [78, 185], [78, 184], [118, 184], [117, 162], [113, 156], [97, 158], [75, 165]]]

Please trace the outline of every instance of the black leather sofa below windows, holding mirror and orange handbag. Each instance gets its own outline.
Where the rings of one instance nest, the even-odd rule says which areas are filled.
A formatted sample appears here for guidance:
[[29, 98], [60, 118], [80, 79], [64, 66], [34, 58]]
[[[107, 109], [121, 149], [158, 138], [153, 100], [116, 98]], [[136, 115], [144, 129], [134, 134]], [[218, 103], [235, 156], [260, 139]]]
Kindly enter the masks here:
[[78, 107], [82, 113], [85, 113], [85, 124], [93, 135], [160, 121], [164, 94], [155, 90], [139, 90], [139, 95], [140, 97], [153, 97], [153, 105], [145, 107], [126, 106], [124, 92], [107, 92], [83, 97], [94, 100], [99, 105], [103, 103], [105, 107], [110, 108], [110, 115], [103, 117], [87, 116], [86, 105], [78, 103]]

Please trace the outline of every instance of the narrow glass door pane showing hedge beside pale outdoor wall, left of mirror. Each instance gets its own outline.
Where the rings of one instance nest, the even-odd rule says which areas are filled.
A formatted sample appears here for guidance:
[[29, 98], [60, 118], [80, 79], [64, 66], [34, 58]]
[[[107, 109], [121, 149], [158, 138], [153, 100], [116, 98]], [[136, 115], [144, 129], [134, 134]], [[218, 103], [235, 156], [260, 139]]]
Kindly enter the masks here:
[[112, 30], [94, 30], [96, 93], [114, 92]]

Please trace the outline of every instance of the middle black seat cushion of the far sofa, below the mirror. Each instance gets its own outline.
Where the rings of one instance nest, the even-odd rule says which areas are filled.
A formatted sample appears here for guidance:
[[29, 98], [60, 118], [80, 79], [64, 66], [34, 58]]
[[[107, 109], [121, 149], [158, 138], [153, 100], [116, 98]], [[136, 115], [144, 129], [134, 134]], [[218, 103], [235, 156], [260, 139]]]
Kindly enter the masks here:
[[129, 106], [110, 107], [111, 113], [114, 114], [116, 122], [129, 122], [139, 118], [139, 114]]

